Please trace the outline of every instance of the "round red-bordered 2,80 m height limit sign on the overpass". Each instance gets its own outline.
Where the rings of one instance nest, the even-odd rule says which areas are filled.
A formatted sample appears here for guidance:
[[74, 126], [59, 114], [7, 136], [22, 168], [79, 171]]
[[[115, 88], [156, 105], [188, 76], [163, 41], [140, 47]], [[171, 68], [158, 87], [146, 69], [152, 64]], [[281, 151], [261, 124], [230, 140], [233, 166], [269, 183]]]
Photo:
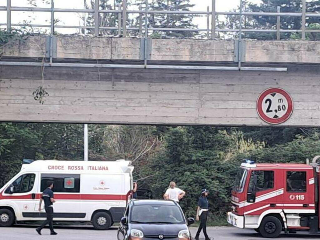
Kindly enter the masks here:
[[281, 88], [269, 88], [257, 100], [257, 112], [269, 124], [284, 123], [290, 118], [292, 111], [292, 98]]

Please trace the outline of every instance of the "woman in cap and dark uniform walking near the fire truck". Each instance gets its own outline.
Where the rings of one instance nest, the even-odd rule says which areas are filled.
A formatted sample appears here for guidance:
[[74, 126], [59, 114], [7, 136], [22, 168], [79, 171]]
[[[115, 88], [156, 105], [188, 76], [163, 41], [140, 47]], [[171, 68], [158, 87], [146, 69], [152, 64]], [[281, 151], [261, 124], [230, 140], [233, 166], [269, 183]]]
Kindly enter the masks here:
[[199, 235], [201, 230], [203, 230], [205, 240], [210, 240], [207, 234], [207, 219], [208, 219], [208, 211], [209, 211], [209, 204], [207, 199], [208, 195], [209, 195], [209, 191], [207, 189], [201, 190], [201, 197], [199, 197], [197, 216], [196, 216], [197, 221], [199, 221], [199, 216], [200, 216], [200, 225], [196, 233], [195, 240], [199, 240]]

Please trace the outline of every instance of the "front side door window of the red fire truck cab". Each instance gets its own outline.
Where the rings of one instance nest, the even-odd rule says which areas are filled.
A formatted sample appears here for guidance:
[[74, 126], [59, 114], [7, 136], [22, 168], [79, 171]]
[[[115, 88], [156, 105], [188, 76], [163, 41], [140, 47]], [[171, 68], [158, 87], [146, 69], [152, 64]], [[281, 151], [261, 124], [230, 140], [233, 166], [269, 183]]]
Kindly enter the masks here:
[[248, 192], [252, 192], [254, 187], [254, 175], [257, 176], [256, 191], [272, 189], [274, 187], [274, 172], [273, 171], [252, 171], [249, 182]]

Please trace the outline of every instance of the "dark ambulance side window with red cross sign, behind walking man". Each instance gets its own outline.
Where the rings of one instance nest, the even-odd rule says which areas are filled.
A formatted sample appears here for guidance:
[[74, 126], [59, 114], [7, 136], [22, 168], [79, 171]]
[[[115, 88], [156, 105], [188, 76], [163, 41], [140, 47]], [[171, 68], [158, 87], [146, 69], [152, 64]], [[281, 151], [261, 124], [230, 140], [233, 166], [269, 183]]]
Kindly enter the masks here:
[[53, 181], [53, 192], [80, 192], [80, 174], [41, 174], [41, 192], [47, 188], [48, 181]]

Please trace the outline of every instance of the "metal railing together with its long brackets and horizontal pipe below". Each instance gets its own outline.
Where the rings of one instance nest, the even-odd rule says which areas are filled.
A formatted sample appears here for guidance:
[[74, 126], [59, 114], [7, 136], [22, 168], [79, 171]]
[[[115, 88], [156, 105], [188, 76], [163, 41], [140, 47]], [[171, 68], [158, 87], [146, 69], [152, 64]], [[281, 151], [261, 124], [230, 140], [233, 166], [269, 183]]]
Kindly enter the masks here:
[[[205, 70], [240, 70], [240, 71], [287, 71], [287, 68], [275, 68], [275, 67], [242, 67], [242, 34], [246, 32], [269, 32], [276, 33], [277, 40], [280, 40], [281, 32], [301, 32], [301, 38], [306, 39], [307, 32], [320, 32], [320, 29], [306, 29], [307, 17], [320, 17], [320, 13], [309, 13], [306, 12], [306, 0], [302, 0], [302, 12], [280, 12], [281, 8], [277, 7], [277, 12], [243, 12], [240, 7], [239, 12], [217, 12], [216, 11], [216, 0], [212, 0], [212, 10], [207, 11], [160, 11], [160, 10], [149, 10], [148, 0], [145, 0], [146, 9], [142, 10], [142, 6], [139, 6], [139, 10], [127, 10], [127, 0], [122, 0], [122, 6], [118, 6], [118, 10], [102, 10], [99, 9], [100, 0], [94, 0], [94, 9], [61, 9], [54, 7], [54, 0], [51, 0], [51, 8], [40, 8], [40, 7], [14, 7], [11, 5], [11, 0], [7, 0], [7, 6], [0, 6], [0, 11], [7, 12], [7, 22], [0, 23], [0, 26], [6, 26], [7, 31], [11, 31], [13, 26], [29, 26], [29, 27], [47, 27], [50, 28], [50, 62], [9, 62], [0, 61], [0, 65], [20, 65], [20, 66], [55, 66], [55, 67], [90, 67], [90, 68], [158, 68], [158, 69], [205, 69]], [[240, 6], [243, 6], [243, 0], [240, 0]], [[50, 25], [45, 24], [12, 24], [11, 13], [13, 11], [22, 12], [51, 12]], [[93, 13], [94, 14], [94, 25], [93, 26], [65, 26], [58, 25], [55, 23], [54, 14], [55, 12], [79, 12], [79, 13]], [[100, 13], [117, 13], [118, 14], [118, 26], [100, 26]], [[127, 27], [127, 14], [136, 13], [139, 14], [139, 26], [138, 27]], [[148, 17], [144, 18], [144, 33], [143, 29], [143, 14], [192, 14], [192, 15], [205, 15], [207, 27], [206, 28], [151, 28], [148, 27]], [[217, 15], [237, 15], [239, 16], [239, 29], [225, 29], [219, 28], [216, 25]], [[243, 28], [242, 17], [243, 16], [275, 16], [276, 29], [246, 29]], [[281, 29], [280, 18], [281, 17], [301, 17], [301, 29]], [[211, 28], [210, 28], [211, 18]], [[98, 24], [96, 24], [98, 23]], [[132, 64], [86, 64], [86, 63], [53, 63], [52, 62], [52, 46], [53, 46], [53, 34], [54, 28], [80, 28], [80, 29], [94, 29], [94, 35], [99, 36], [100, 30], [117, 30], [117, 34], [127, 36], [127, 31], [139, 31], [139, 34], [144, 38], [144, 65], [132, 65]], [[238, 66], [190, 66], [190, 65], [148, 65], [147, 66], [147, 48], [148, 48], [148, 34], [149, 31], [193, 31], [193, 32], [206, 32], [208, 39], [215, 39], [216, 32], [237, 32], [239, 33], [237, 41], [237, 62]], [[236, 42], [235, 42], [236, 43]]]

